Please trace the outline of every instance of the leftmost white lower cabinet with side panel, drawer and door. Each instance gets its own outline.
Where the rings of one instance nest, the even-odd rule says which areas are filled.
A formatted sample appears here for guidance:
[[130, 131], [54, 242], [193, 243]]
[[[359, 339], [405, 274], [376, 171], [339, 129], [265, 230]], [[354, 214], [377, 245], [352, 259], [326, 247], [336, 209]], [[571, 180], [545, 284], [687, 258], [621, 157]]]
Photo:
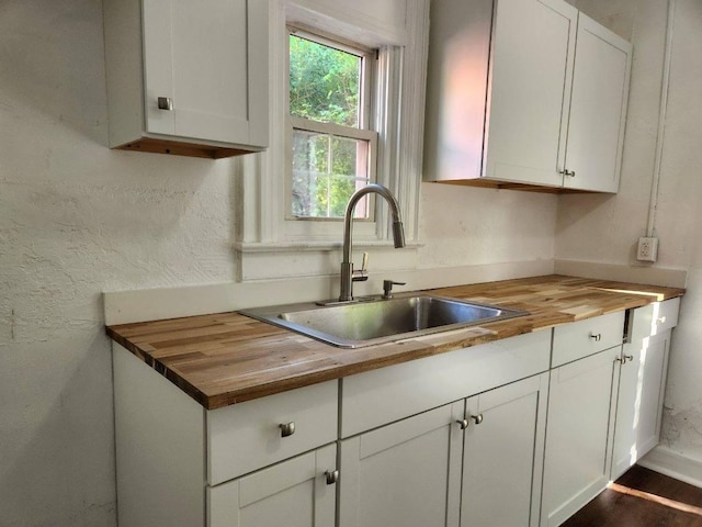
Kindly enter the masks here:
[[113, 368], [122, 527], [335, 526], [337, 381], [205, 410], [117, 344]]

